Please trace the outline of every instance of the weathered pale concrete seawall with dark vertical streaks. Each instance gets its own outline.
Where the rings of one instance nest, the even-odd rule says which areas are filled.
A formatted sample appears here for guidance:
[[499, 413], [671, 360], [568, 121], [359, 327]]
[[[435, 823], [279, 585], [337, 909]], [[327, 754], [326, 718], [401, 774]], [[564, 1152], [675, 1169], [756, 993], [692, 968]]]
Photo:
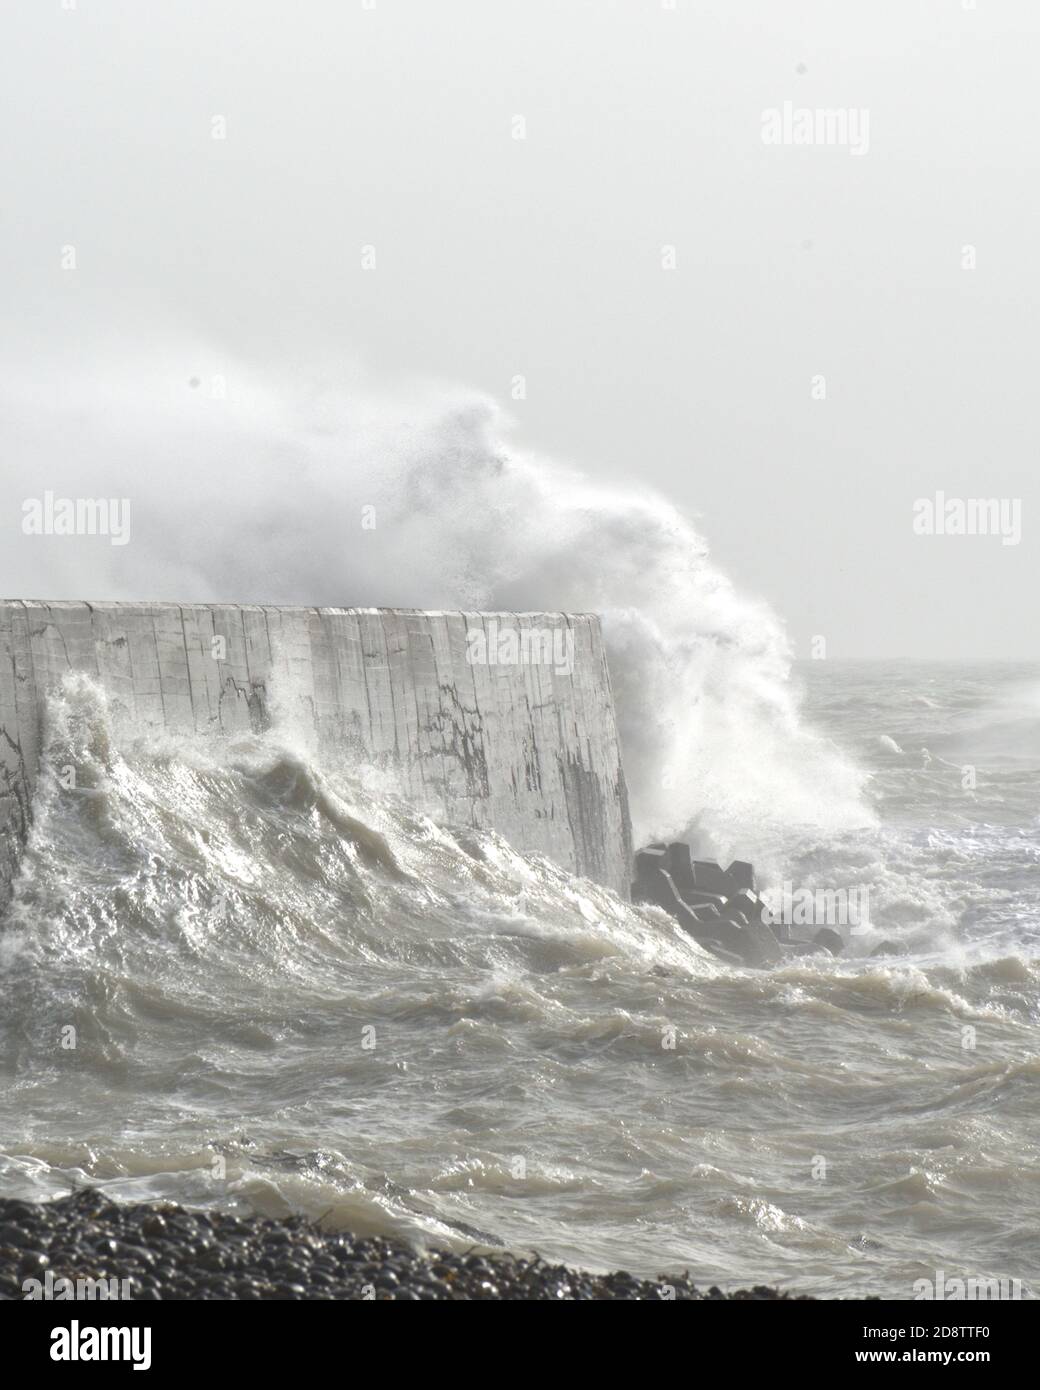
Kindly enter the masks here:
[[[560, 634], [556, 655], [573, 660], [545, 660], [549, 648], [470, 659], [467, 634], [482, 628], [501, 655], [510, 627]], [[0, 602], [0, 902], [31, 819], [42, 709], [70, 670], [142, 730], [227, 737], [288, 720], [323, 758], [392, 770], [434, 816], [498, 830], [627, 897], [628, 809], [594, 616]]]

